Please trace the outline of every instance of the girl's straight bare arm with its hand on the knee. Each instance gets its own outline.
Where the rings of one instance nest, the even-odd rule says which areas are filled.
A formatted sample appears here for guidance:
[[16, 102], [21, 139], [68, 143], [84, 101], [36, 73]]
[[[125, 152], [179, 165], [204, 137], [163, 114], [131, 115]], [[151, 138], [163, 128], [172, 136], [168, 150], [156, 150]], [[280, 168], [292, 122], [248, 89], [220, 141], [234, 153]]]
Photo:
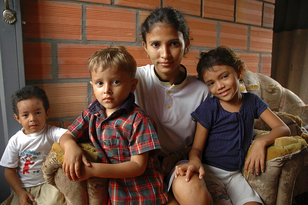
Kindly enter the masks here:
[[208, 133], [209, 130], [197, 122], [193, 147], [189, 152], [189, 163], [176, 166], [176, 170], [174, 171], [175, 178], [177, 178], [178, 175], [186, 175], [186, 181], [188, 182], [194, 171], [199, 173], [199, 179], [204, 177], [205, 173], [201, 159]]

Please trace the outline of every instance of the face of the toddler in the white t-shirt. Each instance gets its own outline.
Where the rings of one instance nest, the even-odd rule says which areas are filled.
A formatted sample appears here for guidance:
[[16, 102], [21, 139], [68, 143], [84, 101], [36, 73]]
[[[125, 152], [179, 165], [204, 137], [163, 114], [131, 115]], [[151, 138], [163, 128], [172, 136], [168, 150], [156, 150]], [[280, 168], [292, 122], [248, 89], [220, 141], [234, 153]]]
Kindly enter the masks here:
[[44, 109], [42, 100], [38, 98], [30, 98], [19, 101], [17, 103], [18, 116], [14, 114], [14, 118], [25, 128], [26, 135], [38, 132], [45, 126], [48, 119], [49, 109]]

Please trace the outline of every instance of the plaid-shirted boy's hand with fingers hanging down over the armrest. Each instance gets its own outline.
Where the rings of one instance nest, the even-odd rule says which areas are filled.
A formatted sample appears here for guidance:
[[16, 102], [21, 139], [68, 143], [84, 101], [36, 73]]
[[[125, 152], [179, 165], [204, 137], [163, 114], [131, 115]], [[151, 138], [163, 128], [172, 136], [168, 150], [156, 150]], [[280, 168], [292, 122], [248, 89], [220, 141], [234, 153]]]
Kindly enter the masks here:
[[63, 172], [70, 181], [76, 181], [81, 178], [80, 161], [82, 161], [87, 167], [91, 166], [82, 149], [75, 143], [71, 149], [64, 152], [62, 166]]

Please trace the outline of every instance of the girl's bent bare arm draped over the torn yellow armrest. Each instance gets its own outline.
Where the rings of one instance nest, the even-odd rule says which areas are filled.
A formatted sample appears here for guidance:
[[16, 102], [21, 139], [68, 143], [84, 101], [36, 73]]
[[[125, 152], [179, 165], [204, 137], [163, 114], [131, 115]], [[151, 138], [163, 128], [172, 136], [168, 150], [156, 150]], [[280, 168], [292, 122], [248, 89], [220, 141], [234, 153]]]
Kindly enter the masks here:
[[260, 165], [261, 171], [264, 172], [265, 170], [266, 146], [273, 144], [276, 138], [290, 136], [291, 134], [289, 127], [269, 108], [266, 108], [266, 110], [262, 112], [260, 118], [264, 120], [272, 130], [267, 135], [257, 139], [251, 147], [250, 154], [246, 159], [245, 171], [248, 171], [249, 167], [252, 175], [254, 174], [254, 167], [256, 168], [257, 175], [260, 173]]

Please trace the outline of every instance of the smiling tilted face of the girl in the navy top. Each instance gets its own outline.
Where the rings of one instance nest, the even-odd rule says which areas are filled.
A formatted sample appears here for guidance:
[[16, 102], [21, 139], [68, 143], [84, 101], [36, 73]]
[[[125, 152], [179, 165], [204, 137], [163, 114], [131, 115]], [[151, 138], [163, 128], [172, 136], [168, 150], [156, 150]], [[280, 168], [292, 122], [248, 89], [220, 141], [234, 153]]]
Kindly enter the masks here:
[[237, 100], [240, 94], [239, 79], [243, 77], [243, 67], [238, 67], [238, 72], [231, 66], [213, 66], [207, 70], [203, 80], [211, 93], [222, 101]]

